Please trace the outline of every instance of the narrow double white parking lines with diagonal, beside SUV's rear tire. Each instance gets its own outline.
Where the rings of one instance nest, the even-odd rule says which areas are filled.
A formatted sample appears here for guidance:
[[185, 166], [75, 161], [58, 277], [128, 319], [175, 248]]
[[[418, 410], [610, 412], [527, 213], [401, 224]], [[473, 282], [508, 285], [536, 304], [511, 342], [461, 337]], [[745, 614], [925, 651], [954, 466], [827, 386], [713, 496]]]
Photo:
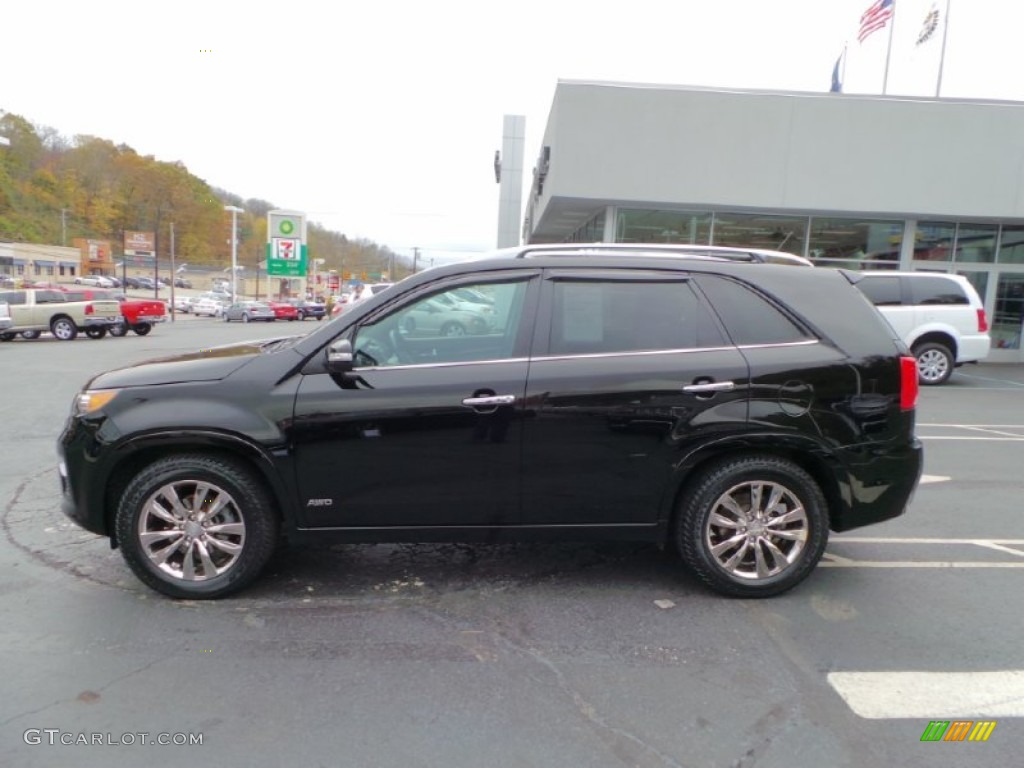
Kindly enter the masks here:
[[[833, 546], [872, 545], [872, 546], [922, 546], [935, 549], [942, 547], [959, 548], [966, 557], [930, 558], [920, 560], [907, 559], [867, 559], [851, 557], [849, 554], [838, 554], [827, 551], [818, 563], [824, 568], [1024, 568], [1024, 539], [924, 539], [924, 538], [873, 538], [873, 537], [835, 537], [829, 543]], [[972, 554], [972, 550], [974, 550]], [[1009, 559], [983, 559], [993, 553], [1011, 555]], [[977, 559], [976, 559], [977, 558]]]

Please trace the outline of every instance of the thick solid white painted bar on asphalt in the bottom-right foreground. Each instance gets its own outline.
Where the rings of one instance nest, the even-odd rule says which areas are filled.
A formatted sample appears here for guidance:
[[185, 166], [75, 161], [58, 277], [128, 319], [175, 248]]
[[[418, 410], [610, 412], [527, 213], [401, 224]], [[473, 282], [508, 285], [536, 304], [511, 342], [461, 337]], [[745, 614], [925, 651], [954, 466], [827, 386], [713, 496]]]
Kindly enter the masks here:
[[831, 672], [828, 684], [870, 720], [1024, 717], [1024, 670]]

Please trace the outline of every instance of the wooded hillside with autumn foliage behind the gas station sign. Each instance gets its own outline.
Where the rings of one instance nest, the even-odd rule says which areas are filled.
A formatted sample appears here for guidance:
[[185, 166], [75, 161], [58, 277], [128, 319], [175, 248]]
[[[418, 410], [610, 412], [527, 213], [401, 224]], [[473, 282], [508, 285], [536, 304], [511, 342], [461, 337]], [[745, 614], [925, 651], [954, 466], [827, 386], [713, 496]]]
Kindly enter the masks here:
[[[170, 223], [179, 262], [230, 264], [230, 216], [239, 214], [239, 263], [255, 268], [264, 257], [266, 212], [287, 208], [211, 187], [181, 163], [142, 156], [95, 136], [67, 139], [7, 113], [0, 117], [0, 241], [71, 245], [74, 238], [106, 240], [119, 254], [126, 230], [157, 232], [161, 259], [170, 255]], [[308, 225], [310, 258], [324, 270], [387, 270], [408, 265], [388, 248]]]

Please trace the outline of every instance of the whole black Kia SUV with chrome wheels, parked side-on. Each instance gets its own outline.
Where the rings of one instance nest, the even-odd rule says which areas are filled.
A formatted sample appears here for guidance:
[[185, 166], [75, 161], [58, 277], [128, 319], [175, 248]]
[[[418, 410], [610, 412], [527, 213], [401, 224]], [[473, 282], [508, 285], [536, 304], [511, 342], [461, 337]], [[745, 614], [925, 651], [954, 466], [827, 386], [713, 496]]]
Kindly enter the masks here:
[[761, 597], [904, 511], [916, 374], [839, 270], [524, 249], [93, 378], [63, 505], [174, 597], [240, 589], [283, 535], [657, 542]]

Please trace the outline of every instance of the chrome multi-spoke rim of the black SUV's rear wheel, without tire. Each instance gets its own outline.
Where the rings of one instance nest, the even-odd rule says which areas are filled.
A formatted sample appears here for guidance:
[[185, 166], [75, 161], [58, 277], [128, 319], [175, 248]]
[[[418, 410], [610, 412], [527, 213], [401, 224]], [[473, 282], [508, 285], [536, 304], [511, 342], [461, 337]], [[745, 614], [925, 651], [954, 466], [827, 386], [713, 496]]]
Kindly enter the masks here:
[[809, 523], [800, 499], [775, 482], [733, 485], [712, 507], [705, 544], [716, 564], [736, 579], [781, 573], [800, 560]]

